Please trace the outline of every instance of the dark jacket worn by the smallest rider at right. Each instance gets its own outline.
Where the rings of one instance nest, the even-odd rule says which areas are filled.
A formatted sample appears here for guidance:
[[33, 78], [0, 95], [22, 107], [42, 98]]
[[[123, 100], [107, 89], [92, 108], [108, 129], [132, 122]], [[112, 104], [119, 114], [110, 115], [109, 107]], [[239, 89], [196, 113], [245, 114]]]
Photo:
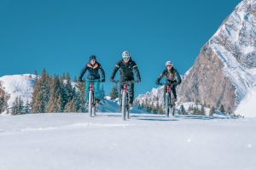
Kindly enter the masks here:
[[177, 84], [180, 84], [182, 82], [181, 77], [179, 76], [176, 69], [172, 67], [171, 71], [168, 71], [165, 69], [162, 71], [162, 73], [157, 77], [156, 82], [160, 82], [160, 80], [166, 76], [166, 82], [176, 82]]

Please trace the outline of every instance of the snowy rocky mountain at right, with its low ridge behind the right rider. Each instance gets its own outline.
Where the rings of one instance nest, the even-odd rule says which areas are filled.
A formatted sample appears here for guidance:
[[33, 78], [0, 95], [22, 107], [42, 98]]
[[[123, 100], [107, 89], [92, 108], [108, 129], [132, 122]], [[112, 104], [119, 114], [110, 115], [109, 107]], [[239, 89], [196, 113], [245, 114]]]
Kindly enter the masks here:
[[[155, 99], [163, 88], [138, 96]], [[256, 1], [244, 0], [201, 48], [177, 88], [180, 103], [199, 101], [242, 116], [256, 116]]]

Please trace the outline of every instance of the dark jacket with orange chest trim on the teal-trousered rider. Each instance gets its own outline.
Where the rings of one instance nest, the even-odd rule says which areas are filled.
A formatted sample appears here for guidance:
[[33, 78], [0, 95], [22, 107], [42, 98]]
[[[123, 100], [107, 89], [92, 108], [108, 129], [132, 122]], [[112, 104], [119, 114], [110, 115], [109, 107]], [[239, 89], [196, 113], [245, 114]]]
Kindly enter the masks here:
[[85, 65], [83, 70], [81, 71], [79, 81], [82, 81], [84, 73], [86, 71], [89, 71], [89, 74], [87, 76], [88, 80], [100, 80], [101, 78], [105, 79], [105, 71], [102, 69], [102, 65], [100, 65], [98, 62], [96, 62], [95, 65], [91, 65], [90, 63]]

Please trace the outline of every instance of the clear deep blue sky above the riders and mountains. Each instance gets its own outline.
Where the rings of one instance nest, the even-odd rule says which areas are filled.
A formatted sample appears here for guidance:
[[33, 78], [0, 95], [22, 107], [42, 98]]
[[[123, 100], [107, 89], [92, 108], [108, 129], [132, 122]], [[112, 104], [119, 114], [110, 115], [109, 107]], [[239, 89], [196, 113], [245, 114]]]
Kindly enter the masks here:
[[[131, 52], [151, 88], [172, 60], [184, 74], [240, 0], [0, 0], [0, 77], [41, 72], [79, 76], [91, 54], [107, 74]], [[108, 81], [108, 91], [112, 84]]]

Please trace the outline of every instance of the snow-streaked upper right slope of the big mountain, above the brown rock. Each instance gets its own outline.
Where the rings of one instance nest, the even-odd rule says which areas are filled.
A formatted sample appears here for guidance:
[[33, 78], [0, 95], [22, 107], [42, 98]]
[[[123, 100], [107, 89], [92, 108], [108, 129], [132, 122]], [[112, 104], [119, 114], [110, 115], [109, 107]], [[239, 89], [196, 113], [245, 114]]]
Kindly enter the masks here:
[[[236, 88], [236, 114], [256, 116], [245, 104], [256, 87], [256, 1], [242, 1], [224, 21], [209, 45], [224, 63], [224, 74]], [[256, 96], [254, 97], [256, 98]], [[245, 101], [242, 101], [246, 99]], [[255, 101], [255, 100], [254, 100]]]

